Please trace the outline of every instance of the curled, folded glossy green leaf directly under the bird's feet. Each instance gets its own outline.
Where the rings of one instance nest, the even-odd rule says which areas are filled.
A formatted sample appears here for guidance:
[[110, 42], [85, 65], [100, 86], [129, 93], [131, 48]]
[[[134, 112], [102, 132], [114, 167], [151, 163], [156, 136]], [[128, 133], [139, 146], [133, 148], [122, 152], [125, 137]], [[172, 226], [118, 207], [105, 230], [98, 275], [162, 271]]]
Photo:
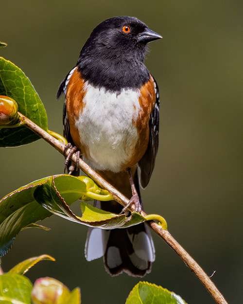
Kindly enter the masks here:
[[[70, 178], [73, 179], [71, 192], [70, 188], [68, 188], [68, 190], [63, 188], [63, 186], [65, 186], [65, 188], [67, 187], [66, 181]], [[85, 202], [81, 202], [82, 217], [74, 215], [68, 206], [73, 202], [73, 197], [68, 197], [67, 194], [69, 193], [69, 195], [71, 194], [73, 196], [76, 193], [78, 197], [85, 193], [90, 195], [91, 189], [87, 187], [87, 183], [85, 183], [84, 180], [93, 182], [87, 177], [83, 180], [69, 175], [60, 176], [59, 178], [51, 177], [36, 187], [34, 197], [39, 204], [53, 214], [90, 227], [115, 229], [129, 227], [145, 221], [145, 218], [137, 213], [132, 213], [132, 218], [127, 221], [125, 215], [112, 214], [92, 207]], [[76, 199], [78, 197], [76, 197]], [[85, 197], [87, 198], [87, 196]], [[102, 199], [102, 195], [99, 196], [99, 199]], [[105, 196], [104, 200], [106, 199], [107, 197]], [[109, 197], [109, 199], [111, 199], [111, 197]]]

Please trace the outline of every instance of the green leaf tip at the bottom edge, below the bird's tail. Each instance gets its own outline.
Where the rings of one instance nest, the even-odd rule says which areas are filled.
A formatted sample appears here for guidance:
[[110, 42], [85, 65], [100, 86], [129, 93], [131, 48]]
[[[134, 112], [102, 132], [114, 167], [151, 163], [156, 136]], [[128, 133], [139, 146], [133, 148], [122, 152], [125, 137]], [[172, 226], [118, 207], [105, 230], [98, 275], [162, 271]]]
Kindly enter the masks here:
[[174, 292], [148, 282], [139, 282], [130, 292], [126, 304], [186, 304]]

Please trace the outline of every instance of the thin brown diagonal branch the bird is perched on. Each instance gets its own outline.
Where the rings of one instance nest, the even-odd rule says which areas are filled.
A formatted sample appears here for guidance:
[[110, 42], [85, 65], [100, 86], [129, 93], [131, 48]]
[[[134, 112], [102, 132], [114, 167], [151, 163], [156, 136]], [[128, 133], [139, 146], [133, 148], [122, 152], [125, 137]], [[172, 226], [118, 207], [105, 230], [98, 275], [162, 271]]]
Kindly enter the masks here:
[[[64, 152], [65, 143], [55, 139], [52, 135], [48, 132], [44, 131], [38, 125], [35, 125], [31, 120], [27, 117], [19, 113], [20, 116], [20, 124], [25, 125], [32, 131], [34, 131], [37, 135], [43, 138], [46, 142], [50, 143], [57, 151], [62, 153], [64, 156], [68, 156], [70, 149]], [[76, 155], [73, 154], [70, 158], [71, 161], [77, 163]], [[107, 189], [109, 193], [112, 195], [114, 200], [120, 203], [122, 206], [126, 206], [129, 202], [127, 197], [124, 197], [117, 189], [115, 189], [112, 185], [110, 185], [107, 181], [105, 181], [101, 176], [99, 176], [93, 169], [91, 169], [86, 162], [82, 159], [79, 159], [79, 166], [78, 166], [84, 173], [86, 173], [91, 179], [93, 179], [99, 186]], [[131, 211], [134, 210], [132, 206]], [[146, 214], [142, 211], [141, 215], [146, 216]], [[191, 269], [192, 272], [198, 277], [201, 283], [205, 286], [208, 290], [209, 294], [212, 296], [214, 301], [217, 304], [227, 304], [223, 295], [219, 292], [217, 287], [214, 283], [209, 279], [208, 275], [205, 271], [196, 263], [196, 261], [190, 256], [190, 254], [182, 248], [182, 246], [177, 243], [174, 237], [168, 232], [168, 230], [163, 229], [160, 225], [156, 224], [154, 221], [147, 221], [146, 224], [150, 226], [156, 234], [162, 238], [184, 261], [184, 263]]]

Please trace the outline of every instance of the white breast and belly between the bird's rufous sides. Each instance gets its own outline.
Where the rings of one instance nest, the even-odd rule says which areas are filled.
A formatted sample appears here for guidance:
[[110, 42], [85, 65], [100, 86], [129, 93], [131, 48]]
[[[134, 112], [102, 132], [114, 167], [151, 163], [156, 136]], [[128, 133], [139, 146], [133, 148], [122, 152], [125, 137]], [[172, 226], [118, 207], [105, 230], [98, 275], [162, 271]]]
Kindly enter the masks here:
[[122, 89], [116, 94], [90, 84], [86, 89], [84, 110], [76, 123], [81, 141], [96, 169], [119, 172], [139, 140], [132, 123], [141, 108], [139, 90]]

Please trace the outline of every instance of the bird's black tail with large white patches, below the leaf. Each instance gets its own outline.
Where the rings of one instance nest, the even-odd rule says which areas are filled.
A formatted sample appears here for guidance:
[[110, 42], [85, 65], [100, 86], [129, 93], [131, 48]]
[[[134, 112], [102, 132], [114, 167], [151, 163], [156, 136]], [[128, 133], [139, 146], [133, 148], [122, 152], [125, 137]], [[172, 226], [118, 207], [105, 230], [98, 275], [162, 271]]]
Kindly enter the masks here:
[[[137, 173], [134, 182], [139, 194]], [[117, 214], [122, 208], [114, 201], [95, 201], [95, 206]], [[87, 261], [103, 256], [104, 267], [112, 276], [124, 271], [131, 276], [142, 277], [151, 271], [155, 249], [149, 229], [144, 223], [125, 229], [89, 228], [85, 256]]]

